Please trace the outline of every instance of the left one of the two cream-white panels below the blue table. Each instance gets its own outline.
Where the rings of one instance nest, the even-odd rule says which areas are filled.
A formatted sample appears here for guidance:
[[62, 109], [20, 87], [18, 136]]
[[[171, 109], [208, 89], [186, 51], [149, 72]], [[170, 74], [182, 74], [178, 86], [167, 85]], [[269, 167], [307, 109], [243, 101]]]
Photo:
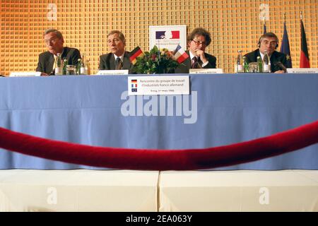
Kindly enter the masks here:
[[157, 211], [158, 172], [0, 170], [1, 211]]

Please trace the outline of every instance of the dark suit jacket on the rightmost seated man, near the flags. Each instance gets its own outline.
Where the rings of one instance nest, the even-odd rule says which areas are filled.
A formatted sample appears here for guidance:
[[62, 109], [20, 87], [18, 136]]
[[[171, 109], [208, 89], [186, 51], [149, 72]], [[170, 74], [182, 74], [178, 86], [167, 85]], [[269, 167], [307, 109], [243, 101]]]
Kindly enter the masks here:
[[[261, 54], [259, 54], [259, 49], [256, 49], [253, 52], [249, 52], [248, 54], [245, 54], [245, 57], [246, 57], [247, 63], [257, 62], [257, 57], [261, 57]], [[271, 57], [269, 60], [271, 61], [271, 72], [283, 70], [281, 69], [280, 66], [277, 65], [277, 62], [281, 62], [283, 66], [285, 66], [286, 68], [288, 67], [288, 61], [287, 61], [286, 55], [281, 52], [274, 51], [271, 54]]]

